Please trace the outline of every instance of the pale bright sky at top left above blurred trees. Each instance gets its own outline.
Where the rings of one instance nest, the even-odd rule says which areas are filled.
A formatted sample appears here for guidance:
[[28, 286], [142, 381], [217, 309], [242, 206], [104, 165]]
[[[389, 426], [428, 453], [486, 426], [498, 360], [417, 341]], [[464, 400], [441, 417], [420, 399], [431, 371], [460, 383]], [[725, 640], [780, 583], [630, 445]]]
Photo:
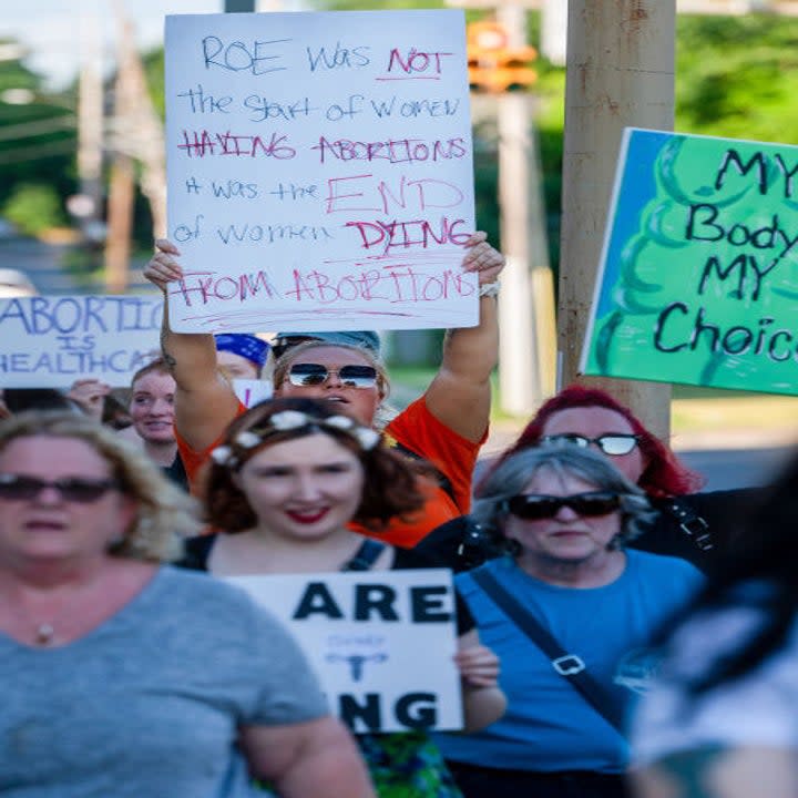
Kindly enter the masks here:
[[[114, 7], [119, 1], [131, 18], [142, 49], [163, 43], [164, 17], [171, 13], [219, 13], [224, 0], [3, 0], [0, 38], [11, 37], [31, 50], [25, 64], [47, 78], [48, 88], [62, 89], [76, 75], [91, 41], [104, 41], [103, 62], [113, 62]], [[297, 10], [296, 0], [256, 0], [258, 10]], [[83, 54], [83, 55], [82, 55]]]

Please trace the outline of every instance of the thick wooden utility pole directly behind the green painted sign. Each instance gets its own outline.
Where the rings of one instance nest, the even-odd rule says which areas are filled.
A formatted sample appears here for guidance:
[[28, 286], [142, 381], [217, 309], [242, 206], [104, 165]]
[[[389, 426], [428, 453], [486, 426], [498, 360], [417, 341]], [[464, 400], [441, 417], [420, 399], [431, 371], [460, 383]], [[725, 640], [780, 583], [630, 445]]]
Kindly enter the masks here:
[[[570, 0], [559, 340], [562, 383], [577, 366], [593, 301], [621, 134], [673, 130], [676, 0]], [[671, 387], [580, 378], [631, 406], [663, 439]]]

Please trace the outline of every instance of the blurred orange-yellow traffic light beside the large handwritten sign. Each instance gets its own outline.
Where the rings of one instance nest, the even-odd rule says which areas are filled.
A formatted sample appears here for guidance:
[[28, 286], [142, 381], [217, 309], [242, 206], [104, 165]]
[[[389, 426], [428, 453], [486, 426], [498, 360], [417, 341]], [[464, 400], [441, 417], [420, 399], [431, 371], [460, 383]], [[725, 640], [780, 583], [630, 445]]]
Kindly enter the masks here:
[[507, 29], [499, 22], [471, 22], [467, 37], [471, 91], [495, 94], [525, 90], [538, 80], [538, 72], [529, 66], [538, 51], [532, 47], [509, 47]]

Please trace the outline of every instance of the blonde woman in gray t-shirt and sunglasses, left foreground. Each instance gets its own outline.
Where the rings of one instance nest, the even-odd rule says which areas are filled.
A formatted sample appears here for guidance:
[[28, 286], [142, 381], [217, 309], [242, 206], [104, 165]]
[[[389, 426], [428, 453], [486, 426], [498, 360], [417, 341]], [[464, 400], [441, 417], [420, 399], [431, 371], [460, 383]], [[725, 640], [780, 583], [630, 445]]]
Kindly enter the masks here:
[[91, 419], [0, 423], [0, 794], [372, 796], [287, 632], [158, 565], [187, 502]]

